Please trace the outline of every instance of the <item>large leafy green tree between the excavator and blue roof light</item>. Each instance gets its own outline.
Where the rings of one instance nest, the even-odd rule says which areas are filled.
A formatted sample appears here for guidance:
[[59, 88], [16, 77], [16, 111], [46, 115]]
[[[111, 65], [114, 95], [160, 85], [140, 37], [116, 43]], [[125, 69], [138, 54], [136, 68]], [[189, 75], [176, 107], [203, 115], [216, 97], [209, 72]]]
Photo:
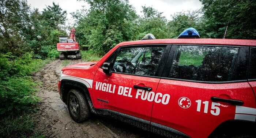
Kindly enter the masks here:
[[128, 0], [85, 0], [90, 9], [78, 19], [76, 27], [79, 43], [83, 47], [106, 53], [119, 42], [133, 40], [136, 36], [137, 15]]

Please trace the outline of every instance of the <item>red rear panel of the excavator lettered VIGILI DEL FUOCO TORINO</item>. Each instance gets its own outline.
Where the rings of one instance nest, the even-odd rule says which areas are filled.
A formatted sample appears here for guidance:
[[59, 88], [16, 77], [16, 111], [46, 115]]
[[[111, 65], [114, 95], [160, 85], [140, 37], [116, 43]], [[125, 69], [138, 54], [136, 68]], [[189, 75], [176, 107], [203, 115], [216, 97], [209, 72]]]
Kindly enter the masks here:
[[57, 43], [58, 51], [77, 51], [79, 50], [79, 44], [77, 42], [74, 43]]

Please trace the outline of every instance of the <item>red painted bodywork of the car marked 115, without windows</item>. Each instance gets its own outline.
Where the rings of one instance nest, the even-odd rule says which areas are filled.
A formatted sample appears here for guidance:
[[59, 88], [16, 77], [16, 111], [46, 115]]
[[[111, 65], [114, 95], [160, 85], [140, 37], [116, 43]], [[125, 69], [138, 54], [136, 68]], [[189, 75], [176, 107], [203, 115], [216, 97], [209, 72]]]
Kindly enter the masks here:
[[[256, 115], [254, 93], [256, 92], [256, 81], [209, 84], [122, 73], [112, 73], [111, 76], [108, 76], [103, 73], [102, 64], [120, 46], [146, 46], [149, 44], [256, 46], [256, 40], [159, 39], [121, 42], [97, 63], [79, 63], [63, 68], [58, 84], [59, 91], [61, 80], [79, 81], [87, 86], [93, 107], [96, 109], [118, 111], [151, 123], [171, 127], [196, 138], [208, 137], [222, 122]], [[104, 86], [103, 83], [105, 83]], [[142, 100], [140, 97], [135, 98], [137, 89], [133, 89], [133, 85], [150, 86], [152, 92], [162, 93], [162, 97], [158, 95], [159, 97], [153, 101]], [[122, 94], [118, 94], [120, 86], [124, 88]], [[166, 100], [163, 101], [166, 104], [156, 102], [162, 100], [164, 94], [170, 96], [168, 103]], [[235, 106], [224, 102], [213, 102], [211, 97], [238, 99], [244, 104]], [[105, 101], [102, 102], [102, 100]]]

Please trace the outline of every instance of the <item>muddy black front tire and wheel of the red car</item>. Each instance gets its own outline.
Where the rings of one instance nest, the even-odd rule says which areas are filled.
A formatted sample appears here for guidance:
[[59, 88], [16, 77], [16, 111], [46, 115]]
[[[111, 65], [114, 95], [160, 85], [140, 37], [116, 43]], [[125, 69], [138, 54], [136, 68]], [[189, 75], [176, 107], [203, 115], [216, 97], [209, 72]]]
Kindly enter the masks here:
[[69, 114], [75, 122], [83, 122], [90, 117], [90, 109], [87, 99], [79, 90], [69, 90], [67, 103]]

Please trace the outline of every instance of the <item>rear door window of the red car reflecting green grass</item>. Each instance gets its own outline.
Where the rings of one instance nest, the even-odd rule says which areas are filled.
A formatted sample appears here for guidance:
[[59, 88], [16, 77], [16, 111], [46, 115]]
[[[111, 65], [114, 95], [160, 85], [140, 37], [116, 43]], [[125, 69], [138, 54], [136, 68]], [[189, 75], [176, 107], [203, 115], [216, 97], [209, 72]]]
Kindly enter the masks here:
[[230, 81], [239, 48], [177, 46], [170, 78], [195, 81]]

